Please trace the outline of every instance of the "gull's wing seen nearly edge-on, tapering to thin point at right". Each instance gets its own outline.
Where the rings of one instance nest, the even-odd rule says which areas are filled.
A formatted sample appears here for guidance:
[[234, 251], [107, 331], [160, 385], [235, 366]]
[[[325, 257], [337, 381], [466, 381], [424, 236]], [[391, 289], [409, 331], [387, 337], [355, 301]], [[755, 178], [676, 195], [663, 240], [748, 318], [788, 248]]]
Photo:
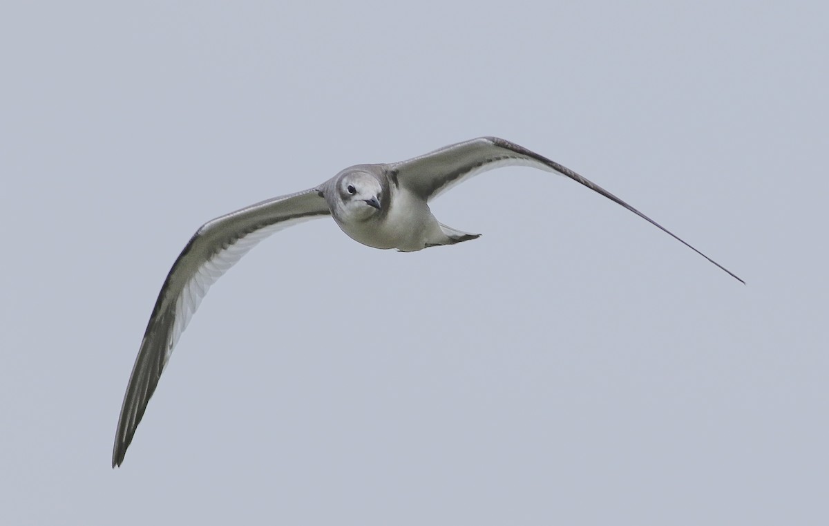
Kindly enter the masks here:
[[642, 217], [642, 219], [651, 223], [653, 226], [657, 226], [657, 228], [666, 232], [677, 241], [680, 241], [692, 251], [695, 251], [706, 260], [717, 265], [720, 269], [725, 270], [734, 279], [739, 280], [740, 283], [745, 283], [723, 265], [705, 256], [705, 254], [696, 250], [696, 248], [686, 243], [686, 241], [683, 241], [679, 236], [676, 236], [664, 226], [653, 221], [642, 212], [639, 212], [627, 202], [624, 202], [604, 188], [601, 188], [598, 184], [583, 178], [570, 168], [550, 161], [550, 159], [542, 157], [538, 153], [531, 152], [518, 144], [504, 139], [498, 139], [497, 137], [472, 139], [464, 143], [452, 144], [445, 148], [435, 150], [432, 153], [426, 153], [420, 157], [409, 159], [408, 161], [388, 164], [386, 168], [392, 181], [398, 182], [403, 187], [409, 188], [412, 192], [429, 201], [441, 193], [446, 192], [455, 184], [473, 177], [473, 175], [492, 170], [492, 168], [510, 165], [530, 166], [532, 168], [540, 168], [547, 172], [560, 173], [583, 184], [594, 192], [599, 192], [604, 197], [627, 208], [637, 216]]

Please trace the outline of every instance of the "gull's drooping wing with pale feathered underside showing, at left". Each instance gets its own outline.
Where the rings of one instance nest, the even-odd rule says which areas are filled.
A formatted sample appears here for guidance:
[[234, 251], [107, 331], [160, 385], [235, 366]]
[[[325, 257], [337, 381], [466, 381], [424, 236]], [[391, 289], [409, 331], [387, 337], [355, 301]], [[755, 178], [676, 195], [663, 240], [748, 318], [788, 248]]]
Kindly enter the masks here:
[[144, 332], [121, 407], [113, 467], [124, 461], [172, 349], [210, 286], [264, 237], [329, 213], [311, 189], [217, 217], [196, 231], [167, 274]]

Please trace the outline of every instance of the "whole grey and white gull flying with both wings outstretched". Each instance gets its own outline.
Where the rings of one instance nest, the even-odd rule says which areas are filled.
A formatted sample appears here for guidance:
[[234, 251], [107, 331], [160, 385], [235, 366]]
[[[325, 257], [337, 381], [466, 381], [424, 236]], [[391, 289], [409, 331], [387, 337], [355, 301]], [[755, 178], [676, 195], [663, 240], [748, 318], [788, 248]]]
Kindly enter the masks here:
[[112, 465], [121, 465], [138, 423], [153, 396], [172, 349], [207, 290], [253, 246], [276, 231], [331, 216], [351, 239], [366, 246], [419, 251], [476, 239], [432, 215], [429, 201], [478, 173], [508, 165], [558, 173], [599, 192], [657, 226], [700, 256], [740, 280], [627, 202], [570, 168], [496, 137], [481, 137], [400, 163], [358, 164], [317, 187], [274, 197], [202, 225], [172, 264], [144, 331], [129, 377], [115, 435]]

